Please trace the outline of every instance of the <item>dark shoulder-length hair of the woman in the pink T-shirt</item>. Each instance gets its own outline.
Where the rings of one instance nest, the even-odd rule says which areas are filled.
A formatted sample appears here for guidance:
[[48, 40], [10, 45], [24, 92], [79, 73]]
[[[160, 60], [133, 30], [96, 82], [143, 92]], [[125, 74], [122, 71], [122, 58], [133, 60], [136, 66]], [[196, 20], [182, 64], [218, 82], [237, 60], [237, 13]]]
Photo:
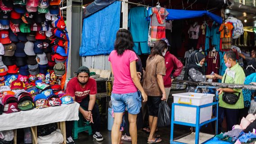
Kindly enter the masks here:
[[129, 30], [119, 29], [116, 33], [116, 39], [114, 42], [114, 50], [116, 50], [117, 55], [123, 55], [125, 50], [133, 50], [133, 37]]

